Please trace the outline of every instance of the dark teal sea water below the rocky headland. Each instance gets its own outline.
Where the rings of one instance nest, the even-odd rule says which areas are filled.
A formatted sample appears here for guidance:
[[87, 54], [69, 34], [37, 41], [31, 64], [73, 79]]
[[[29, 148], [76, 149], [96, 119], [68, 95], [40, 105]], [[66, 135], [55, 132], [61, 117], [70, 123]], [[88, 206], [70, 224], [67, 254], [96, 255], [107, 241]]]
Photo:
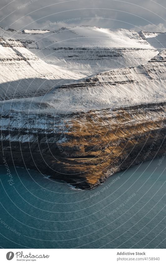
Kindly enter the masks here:
[[165, 248], [165, 161], [90, 191], [12, 166], [9, 177], [0, 166], [1, 248]]

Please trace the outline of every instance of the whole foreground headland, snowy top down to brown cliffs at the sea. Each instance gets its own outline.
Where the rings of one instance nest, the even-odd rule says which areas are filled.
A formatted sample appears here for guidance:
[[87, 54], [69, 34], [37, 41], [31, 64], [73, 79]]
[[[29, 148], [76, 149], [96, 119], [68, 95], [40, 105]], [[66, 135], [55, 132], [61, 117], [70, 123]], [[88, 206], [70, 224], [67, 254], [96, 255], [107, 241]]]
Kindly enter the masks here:
[[162, 51], [148, 63], [102, 72], [45, 96], [0, 102], [1, 154], [79, 188], [94, 188], [165, 152]]

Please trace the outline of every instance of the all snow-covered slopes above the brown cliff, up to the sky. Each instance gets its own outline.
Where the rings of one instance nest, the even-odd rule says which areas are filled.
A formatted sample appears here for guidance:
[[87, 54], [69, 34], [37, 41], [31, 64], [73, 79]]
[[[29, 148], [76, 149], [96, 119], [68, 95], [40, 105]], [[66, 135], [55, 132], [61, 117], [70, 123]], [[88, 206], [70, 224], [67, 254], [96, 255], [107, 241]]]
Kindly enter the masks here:
[[[150, 36], [157, 34], [149, 33]], [[4, 31], [0, 39], [0, 99], [4, 100], [0, 105], [3, 111], [17, 114], [22, 98], [21, 113], [51, 115], [164, 102], [166, 51], [159, 53], [143, 39], [145, 36], [140, 35], [133, 30], [90, 26], [62, 28], [44, 34]], [[94, 44], [104, 58], [100, 63], [108, 67], [107, 62], [111, 61], [112, 67], [110, 64], [109, 71], [103, 72], [99, 63], [99, 73], [87, 77], [93, 67], [89, 66], [91, 57], [85, 54], [91, 52], [91, 63], [96, 65]], [[116, 60], [107, 59], [106, 50]], [[80, 59], [72, 57], [73, 52], [85, 54]], [[138, 52], [139, 59], [135, 57]], [[72, 60], [65, 59], [66, 53]], [[111, 69], [117, 67], [120, 59], [125, 62], [123, 67]], [[63, 67], [54, 65], [57, 62], [62, 62]], [[128, 67], [128, 63], [132, 66]]]

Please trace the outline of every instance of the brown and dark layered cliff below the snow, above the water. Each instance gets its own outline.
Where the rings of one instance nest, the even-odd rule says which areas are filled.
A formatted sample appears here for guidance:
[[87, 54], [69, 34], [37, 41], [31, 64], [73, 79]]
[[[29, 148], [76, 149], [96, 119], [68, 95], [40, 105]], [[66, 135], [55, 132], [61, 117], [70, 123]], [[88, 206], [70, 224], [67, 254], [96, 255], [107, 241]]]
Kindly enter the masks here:
[[22, 121], [19, 131], [12, 114], [2, 118], [6, 126], [0, 152], [8, 164], [82, 189], [94, 188], [111, 174], [166, 149], [165, 103], [47, 116], [43, 128], [31, 117]]

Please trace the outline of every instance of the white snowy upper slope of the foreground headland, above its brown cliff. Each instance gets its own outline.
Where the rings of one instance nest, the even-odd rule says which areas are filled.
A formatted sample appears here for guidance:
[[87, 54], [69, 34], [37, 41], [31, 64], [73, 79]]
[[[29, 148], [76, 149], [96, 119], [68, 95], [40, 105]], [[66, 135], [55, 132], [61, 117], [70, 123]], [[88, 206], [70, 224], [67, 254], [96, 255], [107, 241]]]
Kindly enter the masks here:
[[[144, 65], [102, 72], [56, 87], [45, 96], [27, 98], [24, 111], [56, 115], [164, 102], [165, 70], [164, 50]], [[20, 100], [5, 101], [3, 109], [19, 111], [20, 104]]]

